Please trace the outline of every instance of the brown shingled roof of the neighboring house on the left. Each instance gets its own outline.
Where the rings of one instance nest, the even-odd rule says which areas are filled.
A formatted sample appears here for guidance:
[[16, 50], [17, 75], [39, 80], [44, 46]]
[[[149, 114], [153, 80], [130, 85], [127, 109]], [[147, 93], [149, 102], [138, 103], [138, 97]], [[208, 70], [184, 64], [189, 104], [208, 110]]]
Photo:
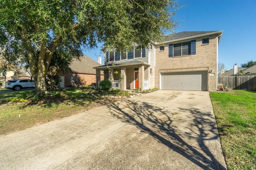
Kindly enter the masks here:
[[72, 69], [72, 72], [80, 73], [93, 73], [96, 74], [96, 70], [93, 67], [101, 66], [98, 62], [94, 61], [90, 57], [83, 55], [80, 60], [74, 59], [69, 65], [69, 68]]

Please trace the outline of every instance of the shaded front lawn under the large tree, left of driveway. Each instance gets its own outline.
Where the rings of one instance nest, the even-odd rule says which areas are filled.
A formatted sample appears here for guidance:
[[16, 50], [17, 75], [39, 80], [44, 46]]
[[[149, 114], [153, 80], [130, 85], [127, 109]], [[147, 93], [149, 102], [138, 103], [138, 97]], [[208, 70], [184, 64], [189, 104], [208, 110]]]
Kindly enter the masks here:
[[128, 94], [120, 90], [95, 91], [88, 87], [52, 90], [43, 98], [32, 96], [34, 91], [30, 90], [0, 94], [0, 135], [123, 99], [103, 98], [100, 96], [102, 93], [115, 96]]

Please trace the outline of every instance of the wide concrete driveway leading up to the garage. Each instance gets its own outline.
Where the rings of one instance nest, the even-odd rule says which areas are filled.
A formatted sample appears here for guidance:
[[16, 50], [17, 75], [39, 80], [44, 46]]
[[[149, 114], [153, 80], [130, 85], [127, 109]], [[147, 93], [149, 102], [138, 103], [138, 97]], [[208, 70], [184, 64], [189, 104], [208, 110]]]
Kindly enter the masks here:
[[0, 144], [2, 170], [226, 169], [208, 92], [157, 90], [1, 136]]

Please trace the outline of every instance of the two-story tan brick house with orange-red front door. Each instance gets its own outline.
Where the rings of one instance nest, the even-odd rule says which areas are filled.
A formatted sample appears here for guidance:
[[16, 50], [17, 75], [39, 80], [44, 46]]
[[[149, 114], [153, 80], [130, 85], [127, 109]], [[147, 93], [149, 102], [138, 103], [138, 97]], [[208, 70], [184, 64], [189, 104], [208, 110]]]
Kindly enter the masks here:
[[156, 87], [215, 91], [222, 33], [186, 31], [175, 33], [162, 43], [151, 43], [146, 48], [136, 45], [127, 53], [106, 51], [105, 65], [95, 67], [96, 82], [99, 84], [100, 70], [104, 70], [104, 79], [109, 79], [114, 88], [121, 90]]

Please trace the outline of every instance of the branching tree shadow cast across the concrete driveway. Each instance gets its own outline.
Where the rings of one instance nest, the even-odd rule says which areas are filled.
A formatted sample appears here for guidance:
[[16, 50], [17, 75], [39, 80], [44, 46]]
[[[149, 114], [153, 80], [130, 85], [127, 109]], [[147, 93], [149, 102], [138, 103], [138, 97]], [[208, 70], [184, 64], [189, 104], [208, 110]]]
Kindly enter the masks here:
[[200, 168], [226, 169], [217, 160], [215, 144], [213, 149], [209, 147], [219, 141], [213, 113], [194, 107], [170, 109], [133, 100], [115, 102], [107, 107], [111, 117], [132, 123]]

